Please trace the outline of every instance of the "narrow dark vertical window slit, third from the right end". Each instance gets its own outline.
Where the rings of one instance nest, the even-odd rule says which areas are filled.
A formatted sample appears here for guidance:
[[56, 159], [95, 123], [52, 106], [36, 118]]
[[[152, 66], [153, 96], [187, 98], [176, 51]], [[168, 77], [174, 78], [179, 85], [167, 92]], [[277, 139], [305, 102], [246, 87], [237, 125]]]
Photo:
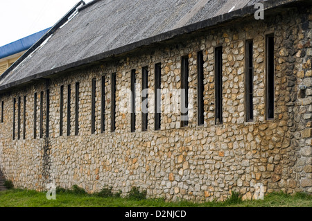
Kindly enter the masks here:
[[223, 123], [222, 117], [222, 46], [215, 48], [215, 96], [216, 124]]

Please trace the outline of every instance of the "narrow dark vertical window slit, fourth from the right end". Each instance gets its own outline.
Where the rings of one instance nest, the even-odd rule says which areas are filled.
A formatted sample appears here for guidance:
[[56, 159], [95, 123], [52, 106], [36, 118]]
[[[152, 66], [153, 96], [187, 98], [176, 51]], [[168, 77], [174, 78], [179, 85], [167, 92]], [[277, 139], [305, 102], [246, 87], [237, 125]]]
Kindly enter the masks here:
[[204, 125], [204, 56], [202, 51], [197, 53], [197, 105], [198, 125]]

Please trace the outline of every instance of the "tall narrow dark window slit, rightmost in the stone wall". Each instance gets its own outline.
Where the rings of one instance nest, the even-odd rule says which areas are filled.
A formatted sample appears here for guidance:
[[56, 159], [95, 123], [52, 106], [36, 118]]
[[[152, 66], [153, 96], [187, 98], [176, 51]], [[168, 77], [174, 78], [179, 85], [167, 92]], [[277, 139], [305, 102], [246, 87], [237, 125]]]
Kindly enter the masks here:
[[274, 119], [274, 36], [266, 36], [266, 118]]

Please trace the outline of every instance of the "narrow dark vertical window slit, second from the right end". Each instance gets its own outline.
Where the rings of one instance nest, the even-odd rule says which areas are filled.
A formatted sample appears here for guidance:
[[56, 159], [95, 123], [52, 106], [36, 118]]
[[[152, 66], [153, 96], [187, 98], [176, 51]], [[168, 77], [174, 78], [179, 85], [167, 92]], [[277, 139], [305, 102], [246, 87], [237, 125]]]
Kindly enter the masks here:
[[253, 42], [248, 40], [246, 42], [246, 78], [245, 78], [245, 104], [246, 104], [246, 121], [252, 121], [254, 119], [254, 104], [253, 104], [253, 79], [254, 79], [254, 67], [253, 67]]

